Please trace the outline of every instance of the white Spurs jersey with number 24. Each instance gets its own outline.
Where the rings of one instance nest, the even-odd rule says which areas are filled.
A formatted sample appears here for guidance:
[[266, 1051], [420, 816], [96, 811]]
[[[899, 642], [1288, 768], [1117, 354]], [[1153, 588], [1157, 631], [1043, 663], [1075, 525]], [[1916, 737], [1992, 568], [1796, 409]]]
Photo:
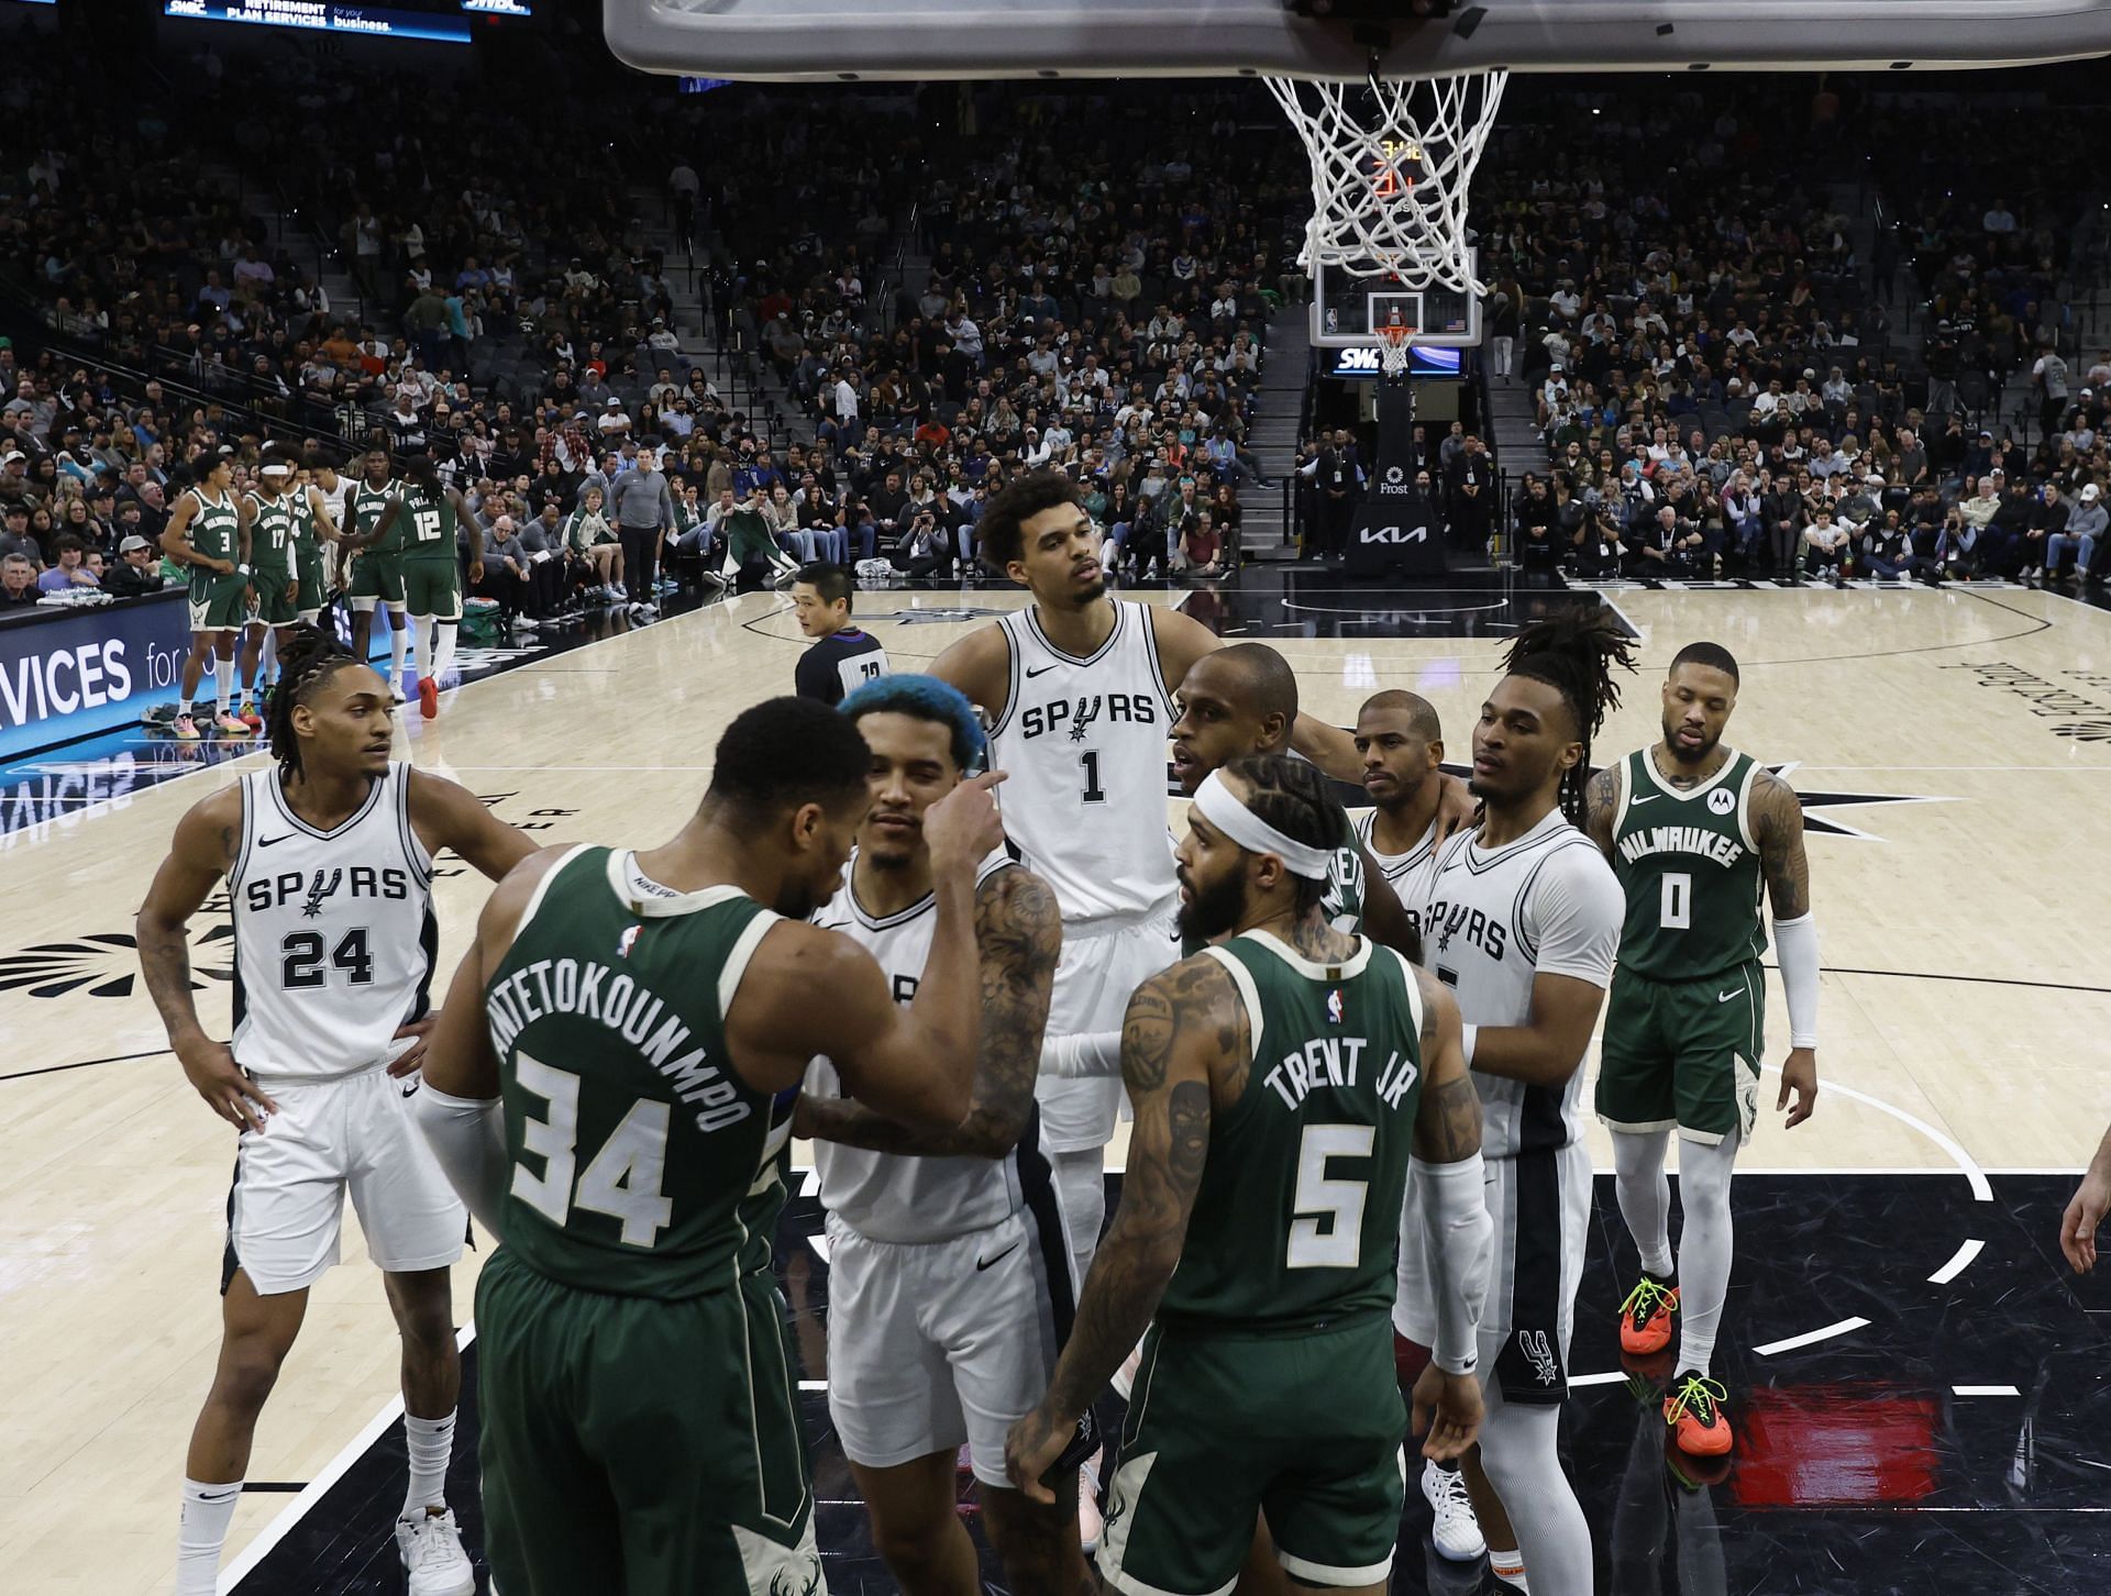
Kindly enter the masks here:
[[319, 832], [279, 790], [243, 777], [228, 872], [234, 1062], [274, 1081], [327, 1081], [384, 1062], [397, 1026], [431, 1007], [433, 859], [410, 823], [410, 764], [391, 762], [359, 811]]

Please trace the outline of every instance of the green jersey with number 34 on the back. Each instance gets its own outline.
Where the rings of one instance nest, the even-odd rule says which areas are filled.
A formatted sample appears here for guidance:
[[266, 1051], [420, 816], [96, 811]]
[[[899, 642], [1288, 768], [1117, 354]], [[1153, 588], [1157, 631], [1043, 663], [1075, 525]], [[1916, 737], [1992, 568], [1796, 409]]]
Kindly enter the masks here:
[[614, 849], [545, 876], [483, 988], [521, 1262], [657, 1298], [768, 1267], [796, 1089], [741, 1081], [724, 1015], [775, 923], [733, 887], [644, 882]]

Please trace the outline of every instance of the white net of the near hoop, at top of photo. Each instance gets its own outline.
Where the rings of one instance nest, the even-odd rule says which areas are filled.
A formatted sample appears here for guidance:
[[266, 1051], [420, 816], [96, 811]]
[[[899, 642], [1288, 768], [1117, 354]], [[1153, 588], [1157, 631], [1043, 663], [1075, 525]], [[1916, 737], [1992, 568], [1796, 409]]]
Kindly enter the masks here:
[[1465, 203], [1507, 82], [1501, 70], [1368, 82], [1269, 78], [1311, 156], [1305, 270], [1478, 296]]

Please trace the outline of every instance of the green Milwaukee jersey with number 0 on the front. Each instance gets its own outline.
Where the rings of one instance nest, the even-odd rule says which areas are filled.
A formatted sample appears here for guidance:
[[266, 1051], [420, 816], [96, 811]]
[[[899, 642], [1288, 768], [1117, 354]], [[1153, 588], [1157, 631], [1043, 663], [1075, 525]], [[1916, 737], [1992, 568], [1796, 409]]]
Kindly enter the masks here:
[[1731, 754], [1701, 785], [1674, 787], [1647, 747], [1628, 756], [1613, 819], [1613, 874], [1628, 893], [1621, 969], [1697, 982], [1767, 952], [1752, 834], [1756, 777], [1750, 754]]

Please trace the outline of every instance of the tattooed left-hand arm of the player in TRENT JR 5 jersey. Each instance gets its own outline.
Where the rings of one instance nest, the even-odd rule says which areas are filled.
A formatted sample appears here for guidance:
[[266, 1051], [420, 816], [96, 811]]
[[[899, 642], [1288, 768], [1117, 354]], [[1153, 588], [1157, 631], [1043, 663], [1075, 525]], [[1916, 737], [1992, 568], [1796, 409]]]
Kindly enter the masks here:
[[[1214, 958], [1176, 965], [1129, 999], [1121, 1034], [1121, 1072], [1136, 1102], [1129, 1172], [1115, 1224], [1085, 1279], [1070, 1345], [1049, 1383], [1049, 1406], [1058, 1412], [1077, 1414], [1091, 1404], [1150, 1326], [1180, 1262], [1210, 1157], [1210, 1081], [1248, 1051], [1235, 1009], [1237, 992]], [[1176, 1051], [1203, 1068], [1197, 1072], [1191, 1062], [1167, 1087]]]

